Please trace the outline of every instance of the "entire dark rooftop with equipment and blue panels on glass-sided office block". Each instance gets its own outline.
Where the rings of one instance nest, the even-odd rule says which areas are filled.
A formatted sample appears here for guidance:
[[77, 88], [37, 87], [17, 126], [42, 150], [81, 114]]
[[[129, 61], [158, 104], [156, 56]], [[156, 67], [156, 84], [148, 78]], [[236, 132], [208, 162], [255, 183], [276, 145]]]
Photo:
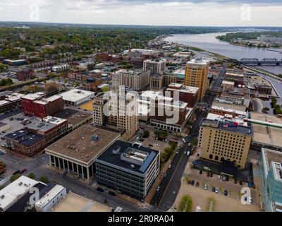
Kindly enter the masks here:
[[144, 174], [158, 154], [159, 151], [145, 148], [142, 143], [128, 143], [118, 140], [99, 155], [97, 160]]

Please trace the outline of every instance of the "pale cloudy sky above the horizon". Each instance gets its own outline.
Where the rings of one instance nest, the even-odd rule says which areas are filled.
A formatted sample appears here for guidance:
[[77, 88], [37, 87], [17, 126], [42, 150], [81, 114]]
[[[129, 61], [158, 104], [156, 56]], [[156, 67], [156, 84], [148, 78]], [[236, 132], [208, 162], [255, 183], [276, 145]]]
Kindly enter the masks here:
[[282, 26], [282, 0], [0, 0], [0, 20]]

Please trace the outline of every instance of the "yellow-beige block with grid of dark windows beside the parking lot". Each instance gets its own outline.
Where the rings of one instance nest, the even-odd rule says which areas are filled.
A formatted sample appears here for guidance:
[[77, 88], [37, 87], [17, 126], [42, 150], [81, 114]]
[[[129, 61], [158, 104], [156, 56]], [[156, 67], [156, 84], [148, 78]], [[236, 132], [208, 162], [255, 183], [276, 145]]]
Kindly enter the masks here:
[[209, 119], [204, 119], [200, 126], [198, 148], [207, 160], [228, 160], [245, 169], [251, 142], [252, 129], [248, 126]]

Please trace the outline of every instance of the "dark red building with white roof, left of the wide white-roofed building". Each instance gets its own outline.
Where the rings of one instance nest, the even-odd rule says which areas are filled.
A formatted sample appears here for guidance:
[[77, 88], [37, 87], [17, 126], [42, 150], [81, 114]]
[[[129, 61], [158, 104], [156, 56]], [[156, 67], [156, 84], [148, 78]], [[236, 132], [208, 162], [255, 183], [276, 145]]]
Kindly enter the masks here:
[[59, 95], [46, 97], [46, 93], [38, 92], [24, 95], [20, 99], [23, 112], [39, 118], [54, 115], [63, 109], [63, 99]]

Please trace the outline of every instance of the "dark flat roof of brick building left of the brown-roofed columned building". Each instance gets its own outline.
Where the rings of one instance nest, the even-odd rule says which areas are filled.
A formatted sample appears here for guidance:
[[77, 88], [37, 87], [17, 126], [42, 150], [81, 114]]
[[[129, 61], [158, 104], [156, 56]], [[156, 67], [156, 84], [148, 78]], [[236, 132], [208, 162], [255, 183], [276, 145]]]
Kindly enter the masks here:
[[27, 129], [20, 129], [20, 130], [14, 131], [13, 133], [8, 133], [5, 137], [10, 138], [13, 141], [18, 141], [18, 143], [25, 145], [25, 146], [33, 145], [37, 143], [38, 141], [41, 141], [42, 139], [44, 139], [44, 136], [36, 134], [36, 133], [32, 133], [28, 131]]

